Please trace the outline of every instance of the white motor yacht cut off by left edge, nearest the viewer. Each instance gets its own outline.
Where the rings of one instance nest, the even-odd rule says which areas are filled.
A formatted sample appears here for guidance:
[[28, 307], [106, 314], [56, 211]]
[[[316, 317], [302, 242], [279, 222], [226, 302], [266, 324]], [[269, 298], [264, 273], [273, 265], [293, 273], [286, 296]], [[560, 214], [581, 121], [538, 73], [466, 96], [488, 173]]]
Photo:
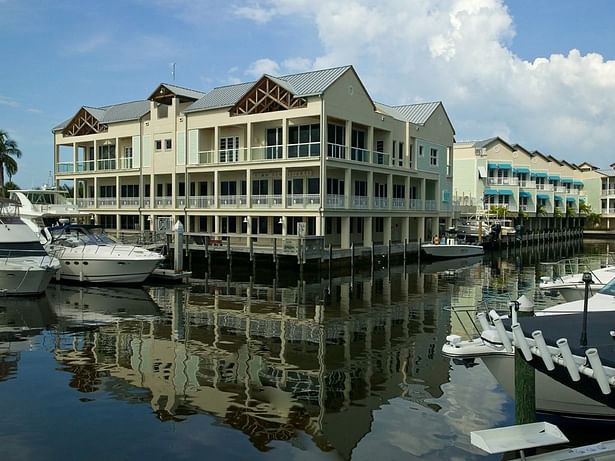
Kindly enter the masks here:
[[40, 294], [60, 267], [8, 199], [0, 199], [0, 257], [2, 295]]

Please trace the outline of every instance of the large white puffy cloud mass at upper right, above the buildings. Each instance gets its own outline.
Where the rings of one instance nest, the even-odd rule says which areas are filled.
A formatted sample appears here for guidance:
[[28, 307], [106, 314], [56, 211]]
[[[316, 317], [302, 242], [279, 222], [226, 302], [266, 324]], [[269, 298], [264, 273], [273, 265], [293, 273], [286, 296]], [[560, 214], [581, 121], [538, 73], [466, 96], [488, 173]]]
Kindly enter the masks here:
[[459, 139], [503, 136], [573, 162], [605, 165], [615, 144], [615, 61], [577, 50], [526, 61], [510, 49], [503, 0], [269, 0], [244, 17], [308, 17], [322, 53], [248, 72], [353, 64], [372, 97], [388, 104], [444, 102]]

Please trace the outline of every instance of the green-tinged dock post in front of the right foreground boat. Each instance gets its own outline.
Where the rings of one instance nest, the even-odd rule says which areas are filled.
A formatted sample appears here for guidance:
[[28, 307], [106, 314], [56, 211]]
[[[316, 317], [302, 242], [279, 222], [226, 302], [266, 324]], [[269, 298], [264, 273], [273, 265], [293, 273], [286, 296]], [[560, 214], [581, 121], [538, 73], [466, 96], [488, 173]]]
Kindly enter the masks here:
[[[520, 308], [519, 301], [511, 303], [511, 309], [517, 311], [517, 317], [531, 317], [531, 308]], [[512, 314], [512, 312], [511, 312]], [[523, 358], [520, 347], [515, 347], [515, 423], [528, 424], [536, 422], [536, 378], [534, 367]]]

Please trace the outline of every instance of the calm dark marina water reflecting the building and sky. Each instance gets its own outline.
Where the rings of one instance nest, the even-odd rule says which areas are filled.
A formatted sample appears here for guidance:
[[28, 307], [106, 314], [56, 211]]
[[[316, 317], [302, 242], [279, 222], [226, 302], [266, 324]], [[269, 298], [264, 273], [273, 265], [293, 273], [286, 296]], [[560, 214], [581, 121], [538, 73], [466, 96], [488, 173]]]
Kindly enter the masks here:
[[441, 356], [444, 307], [552, 305], [539, 262], [605, 251], [2, 298], [0, 459], [501, 459], [469, 434], [513, 424], [514, 402]]

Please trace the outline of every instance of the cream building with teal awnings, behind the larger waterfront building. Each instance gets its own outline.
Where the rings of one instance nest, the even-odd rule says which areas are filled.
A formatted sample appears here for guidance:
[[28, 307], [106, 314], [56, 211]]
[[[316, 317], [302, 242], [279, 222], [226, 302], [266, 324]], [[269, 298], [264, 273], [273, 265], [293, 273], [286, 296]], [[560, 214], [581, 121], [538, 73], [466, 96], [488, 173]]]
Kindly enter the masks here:
[[511, 218], [546, 224], [551, 218], [601, 210], [604, 175], [596, 167], [558, 160], [499, 137], [455, 144], [454, 169], [454, 200], [466, 212], [504, 209]]

